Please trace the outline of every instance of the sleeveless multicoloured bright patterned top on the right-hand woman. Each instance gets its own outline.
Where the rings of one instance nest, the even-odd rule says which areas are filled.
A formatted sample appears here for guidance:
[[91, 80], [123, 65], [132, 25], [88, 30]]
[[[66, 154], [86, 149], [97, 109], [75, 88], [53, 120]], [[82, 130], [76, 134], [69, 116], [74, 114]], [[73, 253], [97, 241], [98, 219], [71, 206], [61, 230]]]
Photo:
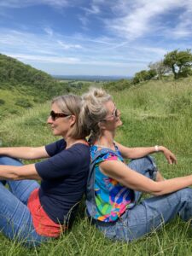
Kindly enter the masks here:
[[[97, 151], [97, 146], [90, 147], [90, 156], [93, 159]], [[129, 207], [132, 199], [132, 190], [121, 185], [118, 181], [106, 176], [100, 171], [99, 164], [106, 160], [119, 160], [123, 158], [117, 146], [115, 152], [101, 155], [96, 159], [95, 165], [95, 199], [96, 199], [96, 215], [93, 218], [103, 222], [113, 222], [121, 216]]]

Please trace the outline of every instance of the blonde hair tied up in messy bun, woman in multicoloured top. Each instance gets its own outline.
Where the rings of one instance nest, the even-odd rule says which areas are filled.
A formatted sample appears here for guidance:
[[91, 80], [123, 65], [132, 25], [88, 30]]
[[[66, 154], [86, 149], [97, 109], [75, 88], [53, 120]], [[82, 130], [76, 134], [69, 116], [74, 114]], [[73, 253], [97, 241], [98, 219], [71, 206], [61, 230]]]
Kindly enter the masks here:
[[100, 135], [99, 122], [105, 119], [108, 113], [104, 103], [112, 101], [112, 96], [101, 88], [90, 88], [82, 99], [81, 121], [86, 123], [90, 131], [90, 143], [94, 143]]

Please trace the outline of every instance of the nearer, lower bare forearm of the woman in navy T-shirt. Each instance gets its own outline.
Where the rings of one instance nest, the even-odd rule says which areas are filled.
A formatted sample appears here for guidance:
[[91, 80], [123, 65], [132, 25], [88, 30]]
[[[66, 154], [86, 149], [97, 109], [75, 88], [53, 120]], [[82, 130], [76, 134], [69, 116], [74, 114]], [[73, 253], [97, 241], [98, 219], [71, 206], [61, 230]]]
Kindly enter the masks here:
[[20, 180], [36, 179], [41, 180], [35, 165], [26, 166], [0, 166], [0, 179]]

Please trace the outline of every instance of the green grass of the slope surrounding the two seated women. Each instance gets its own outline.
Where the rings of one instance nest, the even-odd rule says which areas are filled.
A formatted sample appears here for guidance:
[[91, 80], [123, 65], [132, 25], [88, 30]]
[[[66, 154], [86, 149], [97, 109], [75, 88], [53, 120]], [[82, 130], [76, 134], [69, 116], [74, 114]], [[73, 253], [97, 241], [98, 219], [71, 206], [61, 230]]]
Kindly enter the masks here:
[[[169, 166], [162, 154], [155, 154], [166, 178], [192, 171], [192, 79], [151, 81], [129, 90], [113, 93], [124, 125], [116, 140], [127, 146], [165, 145], [177, 155], [177, 166]], [[46, 125], [49, 103], [23, 111], [0, 125], [3, 146], [39, 146], [55, 140]], [[36, 249], [22, 247], [0, 236], [0, 255], [191, 255], [192, 229], [179, 218], [131, 243], [109, 241], [90, 226], [84, 202], [72, 230], [60, 239]]]

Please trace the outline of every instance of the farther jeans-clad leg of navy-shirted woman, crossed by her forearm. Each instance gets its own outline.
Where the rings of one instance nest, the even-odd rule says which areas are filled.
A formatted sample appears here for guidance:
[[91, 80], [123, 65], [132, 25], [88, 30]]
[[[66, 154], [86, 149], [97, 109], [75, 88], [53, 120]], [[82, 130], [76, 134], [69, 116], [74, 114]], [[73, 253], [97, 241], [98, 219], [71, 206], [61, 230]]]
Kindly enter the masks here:
[[[0, 165], [22, 166], [20, 160], [8, 156], [0, 157]], [[39, 188], [39, 184], [33, 180], [7, 181], [10, 191], [23, 203], [27, 203], [29, 195], [34, 189]]]

